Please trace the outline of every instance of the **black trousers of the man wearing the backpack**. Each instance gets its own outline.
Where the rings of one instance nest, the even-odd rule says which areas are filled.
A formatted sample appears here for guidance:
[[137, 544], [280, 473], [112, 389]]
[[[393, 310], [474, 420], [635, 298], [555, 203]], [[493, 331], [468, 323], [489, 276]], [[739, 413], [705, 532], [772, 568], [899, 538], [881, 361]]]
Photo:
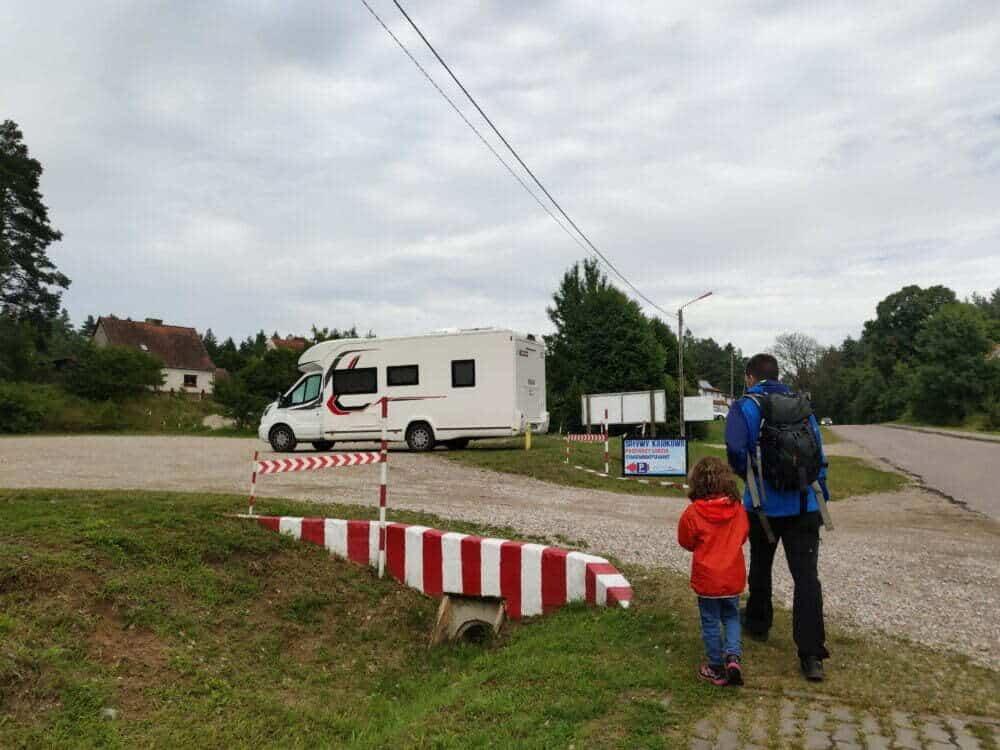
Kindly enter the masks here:
[[[765, 635], [771, 629], [771, 567], [777, 543], [767, 541], [760, 518], [750, 516], [750, 598], [747, 600], [746, 629]], [[775, 538], [785, 548], [788, 570], [795, 583], [792, 600], [792, 635], [799, 656], [829, 656], [823, 627], [823, 588], [816, 570], [819, 561], [819, 513], [798, 516], [768, 516]]]

